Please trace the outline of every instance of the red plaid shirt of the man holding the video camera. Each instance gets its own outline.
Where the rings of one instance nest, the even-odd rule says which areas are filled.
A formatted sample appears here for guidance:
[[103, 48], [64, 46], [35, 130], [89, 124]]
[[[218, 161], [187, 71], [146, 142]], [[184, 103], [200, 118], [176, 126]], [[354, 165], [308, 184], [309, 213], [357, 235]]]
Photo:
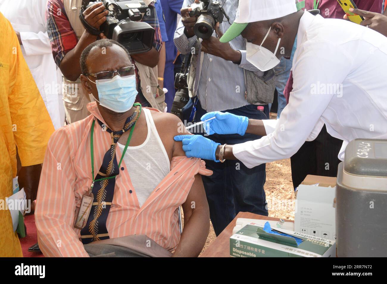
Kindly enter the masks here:
[[[155, 30], [153, 47], [157, 51], [160, 51], [163, 43], [156, 8], [153, 4], [149, 8], [150, 12], [144, 14], [142, 22], [148, 23]], [[59, 66], [65, 54], [72, 50], [78, 43], [77, 35], [70, 25], [62, 0], [48, 0], [46, 22], [52, 55], [55, 63]]]

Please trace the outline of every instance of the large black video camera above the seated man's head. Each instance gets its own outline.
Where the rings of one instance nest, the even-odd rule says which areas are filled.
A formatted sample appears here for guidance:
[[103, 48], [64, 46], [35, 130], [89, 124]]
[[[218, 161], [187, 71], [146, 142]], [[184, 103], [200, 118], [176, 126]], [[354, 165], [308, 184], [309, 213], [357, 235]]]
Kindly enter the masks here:
[[[122, 44], [130, 54], [137, 54], [151, 50], [154, 29], [147, 23], [139, 22], [148, 6], [144, 1], [136, 0], [87, 0], [83, 2], [79, 13], [85, 29], [93, 35], [99, 35], [101, 32], [108, 39], [113, 39]], [[87, 24], [83, 12], [96, 2], [102, 2], [109, 14], [106, 21], [95, 29]]]

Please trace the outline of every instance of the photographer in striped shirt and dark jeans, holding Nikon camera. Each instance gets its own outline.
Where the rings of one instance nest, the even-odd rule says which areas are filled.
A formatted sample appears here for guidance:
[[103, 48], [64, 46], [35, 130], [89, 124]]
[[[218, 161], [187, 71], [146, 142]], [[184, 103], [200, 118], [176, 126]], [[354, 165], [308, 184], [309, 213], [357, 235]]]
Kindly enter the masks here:
[[[190, 17], [188, 14], [192, 10], [188, 6], [193, 3], [193, 0], [184, 1], [182, 18], [174, 36], [175, 45], [182, 54], [192, 52], [199, 40], [194, 33], [197, 17]], [[196, 0], [195, 3], [199, 1]], [[236, 17], [238, 0], [223, 1], [222, 5], [229, 22], [232, 23]], [[201, 70], [200, 74], [196, 75], [198, 81], [195, 83], [196, 122], [200, 121], [200, 117], [205, 113], [213, 111], [229, 112], [260, 120], [267, 119], [264, 112], [257, 109], [257, 105], [250, 104], [245, 98], [245, 70], [258, 71], [246, 60], [245, 40], [240, 36], [229, 43], [219, 42], [223, 32], [230, 27], [229, 22], [225, 17], [222, 24], [217, 23], [214, 27], [212, 37], [204, 39], [201, 43], [202, 52], [198, 55], [200, 60], [197, 60], [196, 67], [197, 70]], [[203, 135], [204, 132], [196, 134]], [[260, 136], [215, 134], [209, 138], [215, 142], [229, 144], [259, 139]], [[252, 169], [248, 169], [240, 161], [225, 163], [206, 161], [206, 165], [214, 172], [212, 176], [203, 177], [203, 182], [216, 235], [219, 235], [240, 211], [268, 214], [264, 192], [265, 164]]]

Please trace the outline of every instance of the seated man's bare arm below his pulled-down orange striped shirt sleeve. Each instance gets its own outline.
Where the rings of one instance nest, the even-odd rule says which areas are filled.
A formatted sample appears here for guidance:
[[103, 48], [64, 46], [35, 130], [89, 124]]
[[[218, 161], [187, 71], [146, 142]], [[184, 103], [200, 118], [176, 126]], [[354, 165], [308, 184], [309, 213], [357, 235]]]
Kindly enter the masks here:
[[210, 230], [210, 212], [200, 174], [195, 176], [183, 212], [184, 229], [173, 257], [197, 257]]

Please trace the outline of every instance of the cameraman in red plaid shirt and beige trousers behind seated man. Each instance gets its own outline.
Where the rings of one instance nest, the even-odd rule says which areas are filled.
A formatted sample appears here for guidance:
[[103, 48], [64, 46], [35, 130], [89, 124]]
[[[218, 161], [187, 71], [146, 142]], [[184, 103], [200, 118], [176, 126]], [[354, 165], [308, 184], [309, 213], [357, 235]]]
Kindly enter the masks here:
[[[150, 13], [144, 14], [142, 22], [147, 22], [155, 29], [153, 47], [148, 52], [135, 54], [132, 57], [136, 63], [149, 66], [149, 72], [154, 72], [151, 68], [155, 67], [159, 61], [159, 51], [161, 49], [162, 41], [159, 22], [153, 4], [154, 1], [147, 0], [145, 2], [149, 3]], [[79, 76], [81, 74], [79, 58], [82, 51], [89, 44], [99, 38], [106, 38], [102, 33], [97, 36], [92, 35], [85, 30], [79, 19], [81, 7], [82, 0], [48, 0], [46, 9], [47, 29], [53, 57], [64, 77], [63, 103], [65, 105], [67, 123], [81, 120], [90, 114], [86, 108], [89, 101], [83, 96], [83, 90], [79, 85]], [[108, 11], [105, 9], [102, 2], [97, 2], [87, 8], [83, 15], [89, 25], [95, 29], [99, 29], [105, 22]], [[139, 78], [137, 79], [139, 80]], [[138, 84], [137, 86], [141, 85]], [[139, 91], [139, 95], [137, 96], [136, 101], [142, 103], [144, 106], [148, 106], [149, 103], [142, 94], [141, 89], [138, 88], [137, 91]], [[156, 105], [152, 105], [152, 107], [156, 107]]]

